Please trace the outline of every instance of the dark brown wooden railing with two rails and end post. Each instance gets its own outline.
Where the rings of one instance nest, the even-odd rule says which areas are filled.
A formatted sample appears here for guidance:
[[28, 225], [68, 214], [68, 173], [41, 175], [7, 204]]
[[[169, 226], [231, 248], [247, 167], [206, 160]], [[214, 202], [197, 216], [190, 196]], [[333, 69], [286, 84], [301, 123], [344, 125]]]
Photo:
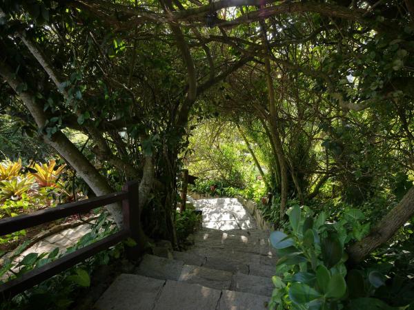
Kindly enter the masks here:
[[8, 299], [26, 289], [30, 289], [30, 287], [39, 284], [43, 280], [47, 280], [57, 273], [77, 265], [79, 262], [86, 260], [86, 258], [97, 254], [99, 251], [108, 249], [126, 238], [135, 238], [138, 235], [135, 230], [139, 227], [139, 223], [136, 223], [137, 217], [134, 216], [138, 207], [138, 187], [138, 181], [131, 181], [124, 185], [121, 192], [0, 220], [0, 236], [3, 236], [14, 231], [65, 218], [66, 216], [84, 214], [92, 209], [111, 203], [122, 202], [122, 213], [124, 216], [123, 227], [117, 233], [94, 242], [92, 245], [82, 247], [39, 268], [32, 269], [19, 278], [0, 285], [0, 299]]

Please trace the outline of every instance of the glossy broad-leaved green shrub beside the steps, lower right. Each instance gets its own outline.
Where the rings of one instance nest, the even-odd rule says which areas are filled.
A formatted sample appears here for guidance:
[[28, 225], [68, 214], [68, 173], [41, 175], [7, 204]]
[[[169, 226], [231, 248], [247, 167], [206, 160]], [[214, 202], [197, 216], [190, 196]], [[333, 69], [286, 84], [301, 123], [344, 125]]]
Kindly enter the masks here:
[[370, 298], [385, 285], [381, 273], [346, 268], [347, 243], [369, 231], [361, 211], [349, 209], [344, 218], [332, 223], [326, 222], [324, 212], [313, 216], [308, 207], [301, 210], [296, 205], [287, 213], [287, 234], [273, 231], [270, 235], [279, 256], [270, 309], [406, 309]]

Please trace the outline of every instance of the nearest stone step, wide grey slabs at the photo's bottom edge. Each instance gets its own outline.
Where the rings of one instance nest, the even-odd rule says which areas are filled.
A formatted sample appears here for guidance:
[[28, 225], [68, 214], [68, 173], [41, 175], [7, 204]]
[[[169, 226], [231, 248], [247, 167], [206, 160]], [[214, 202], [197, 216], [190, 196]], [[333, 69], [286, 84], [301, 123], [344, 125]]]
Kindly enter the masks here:
[[267, 296], [188, 282], [121, 274], [95, 304], [98, 310], [265, 310]]

